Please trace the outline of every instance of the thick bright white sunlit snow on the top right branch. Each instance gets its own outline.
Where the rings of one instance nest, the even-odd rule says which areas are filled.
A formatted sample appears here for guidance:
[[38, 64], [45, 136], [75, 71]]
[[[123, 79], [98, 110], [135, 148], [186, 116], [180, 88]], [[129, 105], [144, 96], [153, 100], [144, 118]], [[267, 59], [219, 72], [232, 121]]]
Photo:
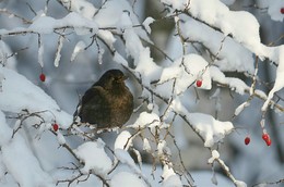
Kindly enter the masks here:
[[[233, 35], [234, 39], [257, 54], [265, 54], [264, 46], [260, 43], [259, 23], [250, 13], [229, 11], [218, 0], [191, 0], [190, 5], [189, 11], [194, 17], [218, 27], [225, 36]], [[249, 29], [242, 32], [244, 28]]]

